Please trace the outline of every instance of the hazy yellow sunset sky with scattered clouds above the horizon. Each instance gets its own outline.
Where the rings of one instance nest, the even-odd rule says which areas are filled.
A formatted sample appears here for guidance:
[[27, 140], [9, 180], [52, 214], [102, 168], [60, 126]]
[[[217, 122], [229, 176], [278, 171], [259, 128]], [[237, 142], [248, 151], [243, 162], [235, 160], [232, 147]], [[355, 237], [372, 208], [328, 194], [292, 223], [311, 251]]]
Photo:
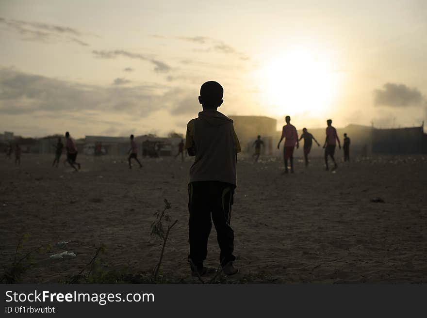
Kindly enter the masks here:
[[219, 111], [299, 129], [427, 120], [427, 1], [0, 0], [0, 131], [184, 133]]

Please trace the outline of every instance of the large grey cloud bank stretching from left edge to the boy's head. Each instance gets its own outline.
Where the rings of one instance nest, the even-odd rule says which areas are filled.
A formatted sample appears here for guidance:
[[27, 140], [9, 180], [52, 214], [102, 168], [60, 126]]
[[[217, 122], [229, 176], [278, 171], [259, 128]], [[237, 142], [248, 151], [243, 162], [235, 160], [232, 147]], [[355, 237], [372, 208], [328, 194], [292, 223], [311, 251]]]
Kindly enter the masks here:
[[190, 100], [191, 105], [198, 105], [197, 93], [190, 99], [189, 91], [184, 88], [158, 84], [122, 86], [128, 81], [120, 78], [115, 82], [113, 86], [88, 85], [0, 68], [0, 116], [59, 118], [74, 113], [82, 114], [82, 121], [88, 118], [87, 122], [88, 114], [95, 114], [95, 120], [99, 120], [96, 116], [107, 114], [146, 118], [159, 110], [188, 113]]

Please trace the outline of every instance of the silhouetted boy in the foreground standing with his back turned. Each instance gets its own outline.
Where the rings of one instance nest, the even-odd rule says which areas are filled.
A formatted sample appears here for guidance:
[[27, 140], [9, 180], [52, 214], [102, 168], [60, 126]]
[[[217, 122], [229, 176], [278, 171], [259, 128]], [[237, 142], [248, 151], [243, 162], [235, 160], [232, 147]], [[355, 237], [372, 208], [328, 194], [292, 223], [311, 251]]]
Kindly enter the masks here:
[[188, 185], [188, 261], [193, 275], [204, 275], [207, 272], [203, 261], [208, 253], [212, 221], [221, 250], [219, 260], [224, 273], [232, 275], [238, 272], [233, 267], [234, 232], [230, 227], [230, 217], [237, 185], [237, 153], [241, 149], [233, 121], [216, 110], [223, 103], [223, 94], [224, 90], [219, 83], [204, 83], [198, 97], [203, 111], [187, 125], [185, 148], [189, 156], [196, 156], [190, 168]]

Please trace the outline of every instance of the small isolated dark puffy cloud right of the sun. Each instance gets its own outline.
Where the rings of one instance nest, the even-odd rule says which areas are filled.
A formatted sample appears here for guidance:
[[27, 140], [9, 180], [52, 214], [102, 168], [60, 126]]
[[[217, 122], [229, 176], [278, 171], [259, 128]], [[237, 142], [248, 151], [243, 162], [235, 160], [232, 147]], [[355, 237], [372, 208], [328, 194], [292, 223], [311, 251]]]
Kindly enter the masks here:
[[420, 106], [425, 97], [417, 88], [410, 88], [404, 84], [386, 83], [383, 89], [374, 91], [375, 105], [390, 107]]

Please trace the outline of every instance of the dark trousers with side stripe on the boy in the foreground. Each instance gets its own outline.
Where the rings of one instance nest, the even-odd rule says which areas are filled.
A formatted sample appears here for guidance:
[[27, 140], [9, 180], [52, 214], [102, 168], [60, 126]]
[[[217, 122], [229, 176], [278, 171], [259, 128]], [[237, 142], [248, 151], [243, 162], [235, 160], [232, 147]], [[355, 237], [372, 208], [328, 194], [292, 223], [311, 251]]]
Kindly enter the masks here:
[[[219, 181], [198, 181], [188, 185], [190, 255], [194, 265], [203, 264], [208, 254], [212, 221], [216, 229], [222, 265], [234, 261], [234, 232], [230, 227], [234, 185]], [[212, 215], [212, 219], [211, 219]]]

